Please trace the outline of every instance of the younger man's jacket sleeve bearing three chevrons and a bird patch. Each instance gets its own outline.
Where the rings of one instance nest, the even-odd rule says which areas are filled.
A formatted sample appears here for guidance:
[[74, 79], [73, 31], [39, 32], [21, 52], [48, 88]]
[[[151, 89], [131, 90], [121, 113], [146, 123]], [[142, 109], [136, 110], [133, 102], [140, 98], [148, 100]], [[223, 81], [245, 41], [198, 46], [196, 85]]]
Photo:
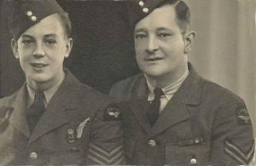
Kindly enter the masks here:
[[90, 130], [87, 164], [125, 164], [123, 129], [117, 106], [108, 105], [96, 112]]

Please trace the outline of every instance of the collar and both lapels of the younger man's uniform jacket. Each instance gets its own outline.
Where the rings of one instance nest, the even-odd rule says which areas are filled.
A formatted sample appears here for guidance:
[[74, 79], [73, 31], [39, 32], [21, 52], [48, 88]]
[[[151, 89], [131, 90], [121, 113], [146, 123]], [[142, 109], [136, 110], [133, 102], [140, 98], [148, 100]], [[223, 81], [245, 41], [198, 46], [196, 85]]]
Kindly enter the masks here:
[[7, 99], [8, 107], [14, 109], [13, 115], [10, 117], [10, 123], [15, 126], [15, 129], [20, 130], [23, 135], [30, 137], [29, 142], [37, 140], [38, 137], [50, 130], [68, 123], [69, 117], [67, 117], [66, 111], [72, 111], [79, 106], [82, 83], [71, 72], [67, 70], [65, 72], [66, 77], [63, 83], [49, 101], [49, 105], [31, 135], [26, 123], [26, 83]]

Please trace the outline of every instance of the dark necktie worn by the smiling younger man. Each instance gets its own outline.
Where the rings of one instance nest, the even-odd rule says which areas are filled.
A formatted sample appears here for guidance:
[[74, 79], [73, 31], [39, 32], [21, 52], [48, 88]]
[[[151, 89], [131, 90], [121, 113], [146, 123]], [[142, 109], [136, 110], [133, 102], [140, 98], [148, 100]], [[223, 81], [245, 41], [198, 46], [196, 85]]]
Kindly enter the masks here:
[[31, 133], [38, 123], [39, 118], [42, 116], [44, 110], [44, 92], [37, 92], [35, 94], [34, 102], [26, 111], [27, 124]]

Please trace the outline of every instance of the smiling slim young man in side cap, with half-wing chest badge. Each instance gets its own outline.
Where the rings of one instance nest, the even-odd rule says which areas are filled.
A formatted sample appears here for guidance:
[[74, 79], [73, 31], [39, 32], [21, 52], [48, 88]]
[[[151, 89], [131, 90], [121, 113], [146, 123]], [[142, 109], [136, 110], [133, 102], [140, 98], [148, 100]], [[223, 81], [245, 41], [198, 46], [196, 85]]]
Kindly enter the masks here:
[[0, 100], [0, 164], [122, 163], [113, 100], [63, 69], [73, 44], [68, 14], [55, 0], [9, 4], [11, 46], [26, 82]]

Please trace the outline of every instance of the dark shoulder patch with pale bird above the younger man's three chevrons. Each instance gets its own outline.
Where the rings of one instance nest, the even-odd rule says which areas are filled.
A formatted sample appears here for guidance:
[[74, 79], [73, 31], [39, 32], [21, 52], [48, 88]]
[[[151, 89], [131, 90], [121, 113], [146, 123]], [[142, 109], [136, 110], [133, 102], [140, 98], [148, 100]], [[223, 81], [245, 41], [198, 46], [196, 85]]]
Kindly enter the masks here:
[[108, 106], [104, 111], [104, 121], [120, 120], [121, 112], [116, 105]]

